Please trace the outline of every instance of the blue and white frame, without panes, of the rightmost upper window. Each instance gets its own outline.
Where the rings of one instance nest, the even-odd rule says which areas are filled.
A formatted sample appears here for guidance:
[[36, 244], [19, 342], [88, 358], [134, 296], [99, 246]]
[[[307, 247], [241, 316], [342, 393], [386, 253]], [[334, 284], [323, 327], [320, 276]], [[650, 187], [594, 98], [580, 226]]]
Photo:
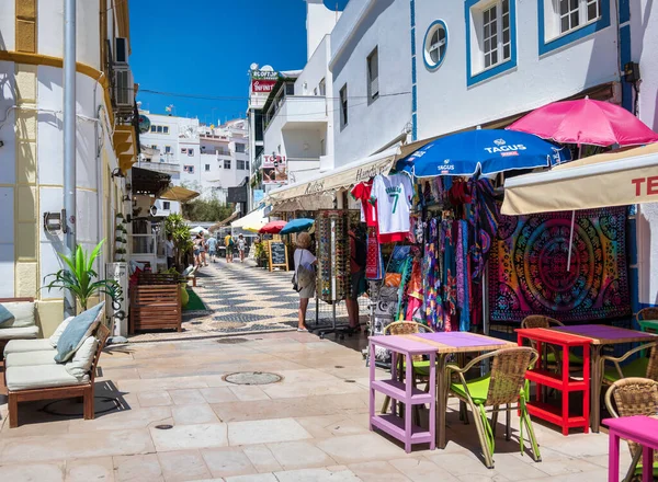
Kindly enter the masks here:
[[[597, 2], [592, 0], [576, 1], [581, 10], [580, 18], [577, 20], [579, 26], [574, 27], [572, 24], [569, 24], [570, 28], [567, 28], [567, 25], [560, 24], [560, 12], [556, 11], [559, 9], [559, 3], [555, 3], [554, 0], [537, 0], [540, 55], [548, 54], [610, 26], [610, 0], [598, 1], [598, 20], [588, 19], [588, 8], [592, 9]], [[546, 16], [546, 12], [551, 12], [552, 16]], [[561, 33], [563, 30], [564, 33]]]

